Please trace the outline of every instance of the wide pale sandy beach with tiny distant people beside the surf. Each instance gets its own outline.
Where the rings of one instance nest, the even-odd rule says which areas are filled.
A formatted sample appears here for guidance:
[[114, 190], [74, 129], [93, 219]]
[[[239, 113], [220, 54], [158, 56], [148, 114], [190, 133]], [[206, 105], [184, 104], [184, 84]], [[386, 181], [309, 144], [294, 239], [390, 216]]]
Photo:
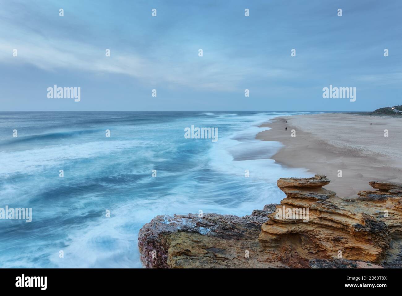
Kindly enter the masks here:
[[[275, 120], [261, 125], [271, 129], [256, 137], [285, 145], [273, 159], [328, 176], [331, 183], [326, 188], [339, 197], [372, 189], [370, 180], [402, 182], [402, 118], [330, 113]], [[291, 137], [292, 130], [295, 137]]]

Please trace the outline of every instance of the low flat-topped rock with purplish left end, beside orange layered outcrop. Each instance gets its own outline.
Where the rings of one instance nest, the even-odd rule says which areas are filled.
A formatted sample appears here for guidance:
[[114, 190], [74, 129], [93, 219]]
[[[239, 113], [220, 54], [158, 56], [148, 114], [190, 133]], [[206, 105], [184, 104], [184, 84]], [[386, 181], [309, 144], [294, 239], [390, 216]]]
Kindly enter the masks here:
[[157, 216], [139, 231], [141, 261], [147, 268], [264, 267], [254, 260], [264, 260], [258, 234], [275, 206], [244, 217], [214, 213]]

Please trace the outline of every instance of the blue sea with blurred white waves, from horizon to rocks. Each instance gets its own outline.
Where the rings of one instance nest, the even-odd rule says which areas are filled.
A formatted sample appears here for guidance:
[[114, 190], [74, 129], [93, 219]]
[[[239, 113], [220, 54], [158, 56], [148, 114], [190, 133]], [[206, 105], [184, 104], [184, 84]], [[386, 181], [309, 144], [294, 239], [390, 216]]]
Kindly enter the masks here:
[[[32, 208], [31, 223], [0, 219], [0, 267], [141, 267], [138, 231], [156, 215], [278, 203], [278, 178], [311, 175], [255, 136], [297, 113], [0, 112], [0, 208]], [[185, 139], [191, 125], [218, 141]]]

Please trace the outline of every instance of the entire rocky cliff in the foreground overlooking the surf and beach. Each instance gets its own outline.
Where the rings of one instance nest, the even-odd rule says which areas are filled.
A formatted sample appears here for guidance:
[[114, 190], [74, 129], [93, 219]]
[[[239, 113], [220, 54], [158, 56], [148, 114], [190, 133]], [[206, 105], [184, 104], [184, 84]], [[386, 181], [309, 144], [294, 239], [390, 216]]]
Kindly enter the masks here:
[[157, 216], [139, 232], [147, 268], [402, 267], [402, 184], [339, 198], [330, 180], [281, 178], [281, 204], [251, 215]]

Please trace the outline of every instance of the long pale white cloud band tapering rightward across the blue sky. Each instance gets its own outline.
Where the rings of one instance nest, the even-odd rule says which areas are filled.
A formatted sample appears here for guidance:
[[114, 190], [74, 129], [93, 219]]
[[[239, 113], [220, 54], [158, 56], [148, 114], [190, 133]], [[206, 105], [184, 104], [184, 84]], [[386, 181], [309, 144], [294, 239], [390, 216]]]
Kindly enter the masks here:
[[284, 74], [279, 69], [268, 71], [259, 68], [251, 59], [230, 59], [216, 53], [213, 58], [199, 57], [198, 50], [194, 50], [193, 57], [183, 57], [179, 62], [166, 59], [163, 52], [151, 58], [121, 48], [110, 48], [111, 56], [106, 57], [106, 48], [88, 43], [66, 38], [49, 39], [43, 34], [15, 26], [11, 31], [12, 34], [6, 32], [4, 27], [0, 30], [0, 62], [14, 62], [12, 50], [15, 48], [18, 50], [18, 62], [46, 71], [68, 69], [123, 74], [143, 83], [169, 83], [170, 86], [214, 91], [234, 91], [245, 79]]

